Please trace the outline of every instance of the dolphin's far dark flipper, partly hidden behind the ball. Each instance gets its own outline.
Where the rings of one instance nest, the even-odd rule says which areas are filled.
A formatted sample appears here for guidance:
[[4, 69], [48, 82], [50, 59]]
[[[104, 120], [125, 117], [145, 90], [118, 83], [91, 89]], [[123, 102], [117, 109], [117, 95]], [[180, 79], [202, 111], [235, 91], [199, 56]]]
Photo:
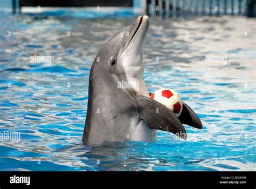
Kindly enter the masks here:
[[197, 114], [190, 108], [190, 106], [186, 105], [183, 102], [182, 112], [179, 116], [179, 120], [183, 124], [190, 125], [197, 129], [202, 129], [203, 125], [198, 118]]

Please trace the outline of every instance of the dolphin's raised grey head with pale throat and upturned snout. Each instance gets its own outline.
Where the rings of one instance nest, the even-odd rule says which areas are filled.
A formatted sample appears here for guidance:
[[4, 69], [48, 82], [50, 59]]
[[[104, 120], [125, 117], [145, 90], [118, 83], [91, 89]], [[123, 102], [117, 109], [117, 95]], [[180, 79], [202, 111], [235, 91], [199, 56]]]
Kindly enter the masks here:
[[119, 30], [99, 51], [92, 64], [91, 76], [103, 76], [103, 82], [106, 77], [117, 80], [121, 75], [142, 77], [143, 44], [148, 28], [149, 17], [138, 16], [132, 25]]

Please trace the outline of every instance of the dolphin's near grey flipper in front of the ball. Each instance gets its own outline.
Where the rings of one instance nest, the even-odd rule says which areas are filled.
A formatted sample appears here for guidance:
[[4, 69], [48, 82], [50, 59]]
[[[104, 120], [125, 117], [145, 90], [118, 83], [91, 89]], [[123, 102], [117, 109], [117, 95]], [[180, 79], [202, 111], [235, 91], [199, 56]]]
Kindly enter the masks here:
[[140, 119], [143, 119], [150, 129], [169, 131], [180, 138], [186, 139], [186, 130], [177, 116], [156, 100], [139, 96], [137, 98]]

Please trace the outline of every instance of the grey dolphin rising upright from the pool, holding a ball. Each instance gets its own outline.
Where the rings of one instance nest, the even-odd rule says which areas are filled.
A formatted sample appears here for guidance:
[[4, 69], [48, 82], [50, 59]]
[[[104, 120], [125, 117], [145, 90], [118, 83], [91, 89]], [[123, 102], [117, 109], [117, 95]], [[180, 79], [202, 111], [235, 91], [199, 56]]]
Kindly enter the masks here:
[[91, 66], [83, 142], [157, 140], [157, 130], [186, 139], [183, 124], [203, 126], [196, 113], [183, 103], [179, 118], [150, 99], [143, 79], [143, 44], [149, 17], [139, 16], [118, 31], [99, 51]]

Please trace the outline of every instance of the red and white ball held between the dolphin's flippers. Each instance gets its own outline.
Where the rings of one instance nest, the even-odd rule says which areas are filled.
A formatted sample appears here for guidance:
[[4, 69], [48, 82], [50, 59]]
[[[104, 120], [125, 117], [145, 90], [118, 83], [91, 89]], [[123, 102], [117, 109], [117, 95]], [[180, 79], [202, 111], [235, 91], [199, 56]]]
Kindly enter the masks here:
[[174, 114], [176, 114], [177, 117], [180, 116], [182, 111], [182, 101], [176, 91], [172, 89], [159, 89], [154, 91], [150, 98], [157, 100], [157, 102], [165, 105]]

